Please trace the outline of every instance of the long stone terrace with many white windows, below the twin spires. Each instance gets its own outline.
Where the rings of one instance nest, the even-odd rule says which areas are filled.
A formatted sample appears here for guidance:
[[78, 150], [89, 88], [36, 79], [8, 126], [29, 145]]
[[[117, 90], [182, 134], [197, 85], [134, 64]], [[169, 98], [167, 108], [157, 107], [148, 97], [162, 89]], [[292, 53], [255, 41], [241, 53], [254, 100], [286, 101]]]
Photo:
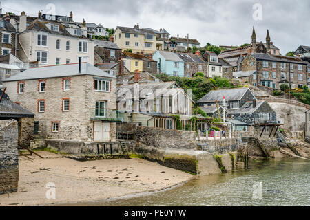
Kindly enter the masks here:
[[254, 86], [279, 89], [282, 83], [287, 83], [294, 89], [310, 83], [307, 62], [298, 57], [253, 53], [247, 55], [241, 65], [242, 72], [256, 71], [249, 80]]

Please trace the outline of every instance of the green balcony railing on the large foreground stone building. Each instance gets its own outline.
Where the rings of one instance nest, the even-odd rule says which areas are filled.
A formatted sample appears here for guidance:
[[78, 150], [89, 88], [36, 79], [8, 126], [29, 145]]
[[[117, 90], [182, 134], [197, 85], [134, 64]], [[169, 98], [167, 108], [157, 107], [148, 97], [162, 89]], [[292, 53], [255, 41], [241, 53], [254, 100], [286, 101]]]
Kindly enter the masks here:
[[123, 122], [124, 113], [116, 109], [90, 109], [90, 119], [107, 122]]

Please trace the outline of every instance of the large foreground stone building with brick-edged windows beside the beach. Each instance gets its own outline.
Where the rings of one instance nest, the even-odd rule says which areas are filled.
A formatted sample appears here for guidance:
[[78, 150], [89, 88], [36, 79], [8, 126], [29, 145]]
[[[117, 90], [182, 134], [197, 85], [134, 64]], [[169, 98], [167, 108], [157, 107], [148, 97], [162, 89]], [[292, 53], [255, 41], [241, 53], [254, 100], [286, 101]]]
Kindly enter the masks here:
[[11, 100], [35, 113], [39, 139], [114, 142], [116, 76], [89, 63], [34, 67], [4, 80]]

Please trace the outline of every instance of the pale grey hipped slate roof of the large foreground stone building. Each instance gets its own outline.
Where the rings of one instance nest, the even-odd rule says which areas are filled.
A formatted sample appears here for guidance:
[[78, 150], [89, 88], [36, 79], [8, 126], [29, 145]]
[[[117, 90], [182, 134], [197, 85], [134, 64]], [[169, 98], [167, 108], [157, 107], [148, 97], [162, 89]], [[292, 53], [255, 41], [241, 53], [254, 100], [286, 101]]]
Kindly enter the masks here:
[[24, 72], [19, 72], [14, 76], [10, 76], [3, 80], [3, 82], [17, 81], [17, 80], [33, 80], [40, 78], [56, 78], [64, 76], [79, 76], [91, 75], [115, 78], [103, 70], [90, 65], [89, 63], [81, 64], [81, 74], [79, 74], [79, 63], [70, 63], [64, 65], [50, 65], [45, 67], [33, 67], [26, 69]]

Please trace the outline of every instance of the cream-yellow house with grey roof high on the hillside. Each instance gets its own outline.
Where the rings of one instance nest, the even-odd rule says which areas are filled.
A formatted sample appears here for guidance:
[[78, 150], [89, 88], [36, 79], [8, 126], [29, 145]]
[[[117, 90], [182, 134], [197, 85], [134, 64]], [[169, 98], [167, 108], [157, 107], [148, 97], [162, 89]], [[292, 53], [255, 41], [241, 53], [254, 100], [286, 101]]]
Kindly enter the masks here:
[[114, 42], [123, 51], [131, 49], [132, 52], [153, 54], [156, 50], [163, 50], [164, 41], [151, 28], [134, 28], [117, 26], [113, 34]]

